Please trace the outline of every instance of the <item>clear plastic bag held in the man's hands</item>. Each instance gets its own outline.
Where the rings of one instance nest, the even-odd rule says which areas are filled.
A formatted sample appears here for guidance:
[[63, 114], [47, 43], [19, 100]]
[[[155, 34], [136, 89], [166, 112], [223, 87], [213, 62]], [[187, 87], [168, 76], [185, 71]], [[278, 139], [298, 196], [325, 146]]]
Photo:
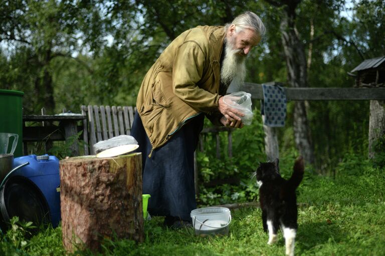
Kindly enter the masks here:
[[253, 121], [251, 110], [251, 94], [246, 92], [235, 92], [225, 95], [223, 101], [230, 107], [240, 110], [245, 116], [241, 116], [244, 125], [250, 125]]

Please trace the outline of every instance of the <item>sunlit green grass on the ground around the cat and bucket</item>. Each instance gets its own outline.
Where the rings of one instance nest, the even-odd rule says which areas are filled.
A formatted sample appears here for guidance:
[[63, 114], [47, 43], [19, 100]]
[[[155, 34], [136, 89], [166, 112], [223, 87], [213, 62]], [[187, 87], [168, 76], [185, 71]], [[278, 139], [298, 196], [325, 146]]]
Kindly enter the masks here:
[[[385, 255], [384, 181], [385, 170], [373, 169], [368, 162], [342, 162], [336, 166], [335, 179], [307, 174], [298, 188], [296, 255]], [[161, 217], [153, 217], [145, 222], [145, 240], [141, 244], [106, 240], [100, 253], [74, 254], [284, 255], [282, 233], [277, 244], [267, 244], [259, 208], [240, 208], [231, 214], [229, 236], [200, 237], [191, 229], [169, 230], [162, 226]], [[19, 249], [11, 234], [3, 235], [0, 254], [65, 254], [60, 227], [41, 231]]]

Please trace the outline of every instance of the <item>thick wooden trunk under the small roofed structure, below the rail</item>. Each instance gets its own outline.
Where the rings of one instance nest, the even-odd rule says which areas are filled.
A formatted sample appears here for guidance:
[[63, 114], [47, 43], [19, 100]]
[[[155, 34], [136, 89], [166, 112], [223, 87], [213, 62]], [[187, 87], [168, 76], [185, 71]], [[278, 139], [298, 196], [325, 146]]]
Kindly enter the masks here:
[[383, 152], [384, 146], [375, 146], [378, 142], [383, 142], [385, 136], [385, 102], [370, 101], [369, 116], [369, 158], [374, 158], [376, 154]]

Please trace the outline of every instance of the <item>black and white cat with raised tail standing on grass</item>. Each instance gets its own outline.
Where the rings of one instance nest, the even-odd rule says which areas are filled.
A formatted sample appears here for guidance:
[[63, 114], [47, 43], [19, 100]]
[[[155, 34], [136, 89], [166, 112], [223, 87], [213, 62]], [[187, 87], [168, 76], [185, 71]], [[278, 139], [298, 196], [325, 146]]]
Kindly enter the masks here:
[[295, 189], [301, 183], [304, 173], [303, 158], [294, 163], [290, 179], [281, 177], [279, 160], [260, 163], [254, 175], [259, 185], [259, 202], [265, 232], [269, 232], [268, 244], [277, 242], [277, 231], [281, 227], [285, 238], [286, 255], [294, 255], [297, 233], [297, 197]]

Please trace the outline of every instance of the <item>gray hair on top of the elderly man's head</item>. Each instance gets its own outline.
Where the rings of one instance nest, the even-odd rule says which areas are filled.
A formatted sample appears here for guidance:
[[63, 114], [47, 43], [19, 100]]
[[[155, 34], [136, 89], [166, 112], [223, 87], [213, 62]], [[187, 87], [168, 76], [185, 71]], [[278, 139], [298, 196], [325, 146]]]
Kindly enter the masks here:
[[225, 25], [225, 30], [228, 31], [230, 26], [233, 24], [236, 28], [239, 27], [241, 30], [246, 28], [253, 29], [259, 34], [260, 37], [262, 37], [266, 33], [265, 25], [263, 25], [258, 15], [252, 12], [245, 12], [241, 15], [238, 15], [234, 19], [234, 21]]

